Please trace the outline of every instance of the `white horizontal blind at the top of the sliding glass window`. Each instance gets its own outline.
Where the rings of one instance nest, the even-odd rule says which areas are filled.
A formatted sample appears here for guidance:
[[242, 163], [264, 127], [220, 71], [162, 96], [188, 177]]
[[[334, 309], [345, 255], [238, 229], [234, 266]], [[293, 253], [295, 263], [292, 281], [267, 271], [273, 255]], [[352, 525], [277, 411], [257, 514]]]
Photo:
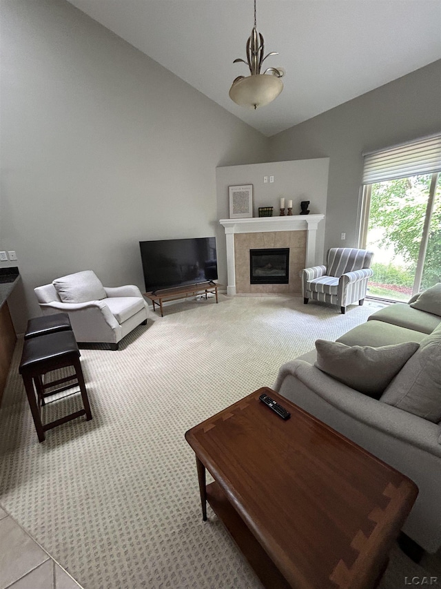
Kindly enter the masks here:
[[362, 184], [441, 171], [441, 135], [367, 153]]

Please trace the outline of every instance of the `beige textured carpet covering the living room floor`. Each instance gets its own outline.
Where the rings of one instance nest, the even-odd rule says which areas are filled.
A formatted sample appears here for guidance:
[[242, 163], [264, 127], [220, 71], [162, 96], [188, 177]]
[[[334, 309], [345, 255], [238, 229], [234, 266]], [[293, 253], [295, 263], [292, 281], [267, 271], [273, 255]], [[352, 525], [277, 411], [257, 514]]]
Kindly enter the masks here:
[[[185, 431], [378, 307], [341, 315], [301, 298], [226, 296], [167, 307], [119, 351], [82, 351], [94, 419], [42, 444], [17, 374], [19, 342], [0, 412], [0, 504], [86, 589], [260, 588], [212, 512], [201, 519]], [[406, 567], [416, 574], [398, 556], [383, 589], [404, 587]]]

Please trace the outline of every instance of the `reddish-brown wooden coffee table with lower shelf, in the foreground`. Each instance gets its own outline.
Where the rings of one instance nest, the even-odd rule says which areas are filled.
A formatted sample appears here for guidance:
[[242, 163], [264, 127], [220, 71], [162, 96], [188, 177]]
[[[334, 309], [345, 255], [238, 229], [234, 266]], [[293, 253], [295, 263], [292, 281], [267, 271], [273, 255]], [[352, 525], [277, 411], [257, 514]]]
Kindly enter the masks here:
[[[263, 392], [291, 418], [263, 405]], [[376, 586], [418, 494], [407, 476], [266, 387], [185, 438], [203, 519], [208, 501], [266, 588]]]

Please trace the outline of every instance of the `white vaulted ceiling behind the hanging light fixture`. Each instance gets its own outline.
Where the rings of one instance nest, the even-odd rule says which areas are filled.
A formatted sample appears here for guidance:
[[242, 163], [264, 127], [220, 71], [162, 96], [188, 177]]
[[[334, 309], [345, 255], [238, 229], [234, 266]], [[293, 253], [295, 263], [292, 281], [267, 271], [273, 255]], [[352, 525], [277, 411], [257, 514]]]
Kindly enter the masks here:
[[254, 111], [228, 91], [248, 75], [253, 0], [69, 0], [267, 136], [441, 58], [440, 0], [257, 0], [265, 64], [282, 94]]

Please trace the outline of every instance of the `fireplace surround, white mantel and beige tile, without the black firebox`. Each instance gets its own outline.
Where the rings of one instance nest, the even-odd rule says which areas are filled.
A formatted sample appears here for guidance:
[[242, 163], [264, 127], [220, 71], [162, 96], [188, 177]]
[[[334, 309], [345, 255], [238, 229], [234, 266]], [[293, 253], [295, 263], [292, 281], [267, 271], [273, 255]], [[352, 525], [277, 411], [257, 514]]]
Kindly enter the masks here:
[[[318, 223], [325, 215], [221, 219], [227, 240], [227, 294], [300, 294], [300, 270], [316, 263]], [[289, 248], [289, 284], [251, 284], [249, 250]]]

